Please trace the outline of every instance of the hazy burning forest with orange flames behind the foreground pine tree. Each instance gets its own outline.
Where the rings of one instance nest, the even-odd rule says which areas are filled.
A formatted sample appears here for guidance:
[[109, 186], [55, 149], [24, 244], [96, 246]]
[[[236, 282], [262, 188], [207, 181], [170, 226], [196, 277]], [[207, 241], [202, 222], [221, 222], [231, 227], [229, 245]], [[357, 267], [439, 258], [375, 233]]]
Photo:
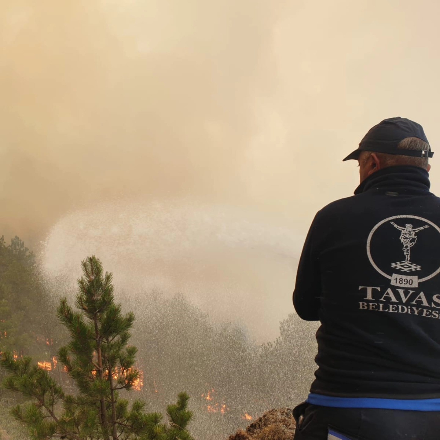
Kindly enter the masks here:
[[[19, 245], [24, 249], [24, 245]], [[22, 263], [26, 262], [23, 255], [20, 254]], [[14, 253], [9, 257], [17, 260]], [[29, 297], [33, 283], [33, 287], [40, 289], [39, 304], [35, 307], [42, 313], [38, 318], [29, 316], [35, 324], [32, 327], [15, 325], [12, 312], [22, 312], [11, 311], [9, 319], [0, 323], [1, 351], [11, 350], [15, 345], [12, 359], [33, 356], [38, 369], [69, 392], [76, 392], [77, 385], [70, 376], [75, 367], [69, 364], [66, 353], [60, 352], [68, 342], [68, 333], [54, 320], [55, 306], [37, 273], [24, 281]], [[118, 297], [117, 291], [114, 294]], [[136, 310], [131, 338], [137, 347], [136, 365], [113, 367], [113, 383], [129, 383], [129, 400], [143, 399], [151, 408], [165, 408], [175, 399], [176, 390], [186, 391], [191, 398], [189, 407], [195, 414], [191, 433], [196, 438], [203, 438], [209, 426], [210, 438], [222, 439], [268, 408], [288, 403], [291, 406], [305, 392], [295, 377], [310, 373], [304, 358], [312, 359], [312, 352], [298, 344], [298, 334], [306, 335], [310, 329], [294, 315], [281, 323], [276, 341], [256, 345], [242, 326], [214, 325], [207, 314], [182, 295], [165, 297], [158, 292], [142, 292], [134, 300], [125, 301], [123, 309]], [[17, 345], [17, 341], [22, 341], [22, 345]], [[98, 365], [96, 351], [90, 356], [89, 362]], [[281, 363], [280, 359], [290, 362]], [[104, 380], [110, 379], [108, 369], [101, 371]], [[92, 367], [90, 374], [96, 377], [99, 370]]]

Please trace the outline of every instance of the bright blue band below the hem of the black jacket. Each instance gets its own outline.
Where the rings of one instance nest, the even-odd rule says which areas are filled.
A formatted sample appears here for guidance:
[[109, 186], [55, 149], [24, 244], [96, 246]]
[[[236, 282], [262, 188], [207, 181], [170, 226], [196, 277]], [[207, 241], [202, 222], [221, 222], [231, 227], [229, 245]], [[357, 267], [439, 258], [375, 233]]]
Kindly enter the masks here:
[[373, 397], [334, 397], [310, 393], [306, 402], [322, 407], [440, 411], [440, 399], [376, 399]]

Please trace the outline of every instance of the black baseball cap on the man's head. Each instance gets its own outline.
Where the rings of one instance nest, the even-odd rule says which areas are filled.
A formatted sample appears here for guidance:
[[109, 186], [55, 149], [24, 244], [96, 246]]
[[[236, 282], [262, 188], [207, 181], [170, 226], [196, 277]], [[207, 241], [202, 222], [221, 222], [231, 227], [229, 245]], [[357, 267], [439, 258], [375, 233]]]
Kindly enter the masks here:
[[368, 133], [359, 143], [357, 150], [343, 159], [358, 159], [361, 151], [374, 151], [376, 153], [400, 154], [402, 156], [413, 156], [416, 158], [432, 158], [433, 152], [429, 150], [403, 150], [397, 149], [399, 142], [407, 137], [417, 137], [429, 144], [426, 139], [422, 125], [410, 121], [405, 117], [390, 117], [379, 122], [378, 125], [370, 128]]

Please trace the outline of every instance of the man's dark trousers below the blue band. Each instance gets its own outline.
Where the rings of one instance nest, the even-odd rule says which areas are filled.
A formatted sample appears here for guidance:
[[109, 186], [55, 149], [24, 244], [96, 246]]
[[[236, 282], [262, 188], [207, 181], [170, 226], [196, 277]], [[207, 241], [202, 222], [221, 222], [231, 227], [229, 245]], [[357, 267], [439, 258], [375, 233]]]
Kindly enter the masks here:
[[334, 408], [301, 403], [294, 440], [326, 440], [328, 428], [352, 440], [439, 440], [440, 411]]

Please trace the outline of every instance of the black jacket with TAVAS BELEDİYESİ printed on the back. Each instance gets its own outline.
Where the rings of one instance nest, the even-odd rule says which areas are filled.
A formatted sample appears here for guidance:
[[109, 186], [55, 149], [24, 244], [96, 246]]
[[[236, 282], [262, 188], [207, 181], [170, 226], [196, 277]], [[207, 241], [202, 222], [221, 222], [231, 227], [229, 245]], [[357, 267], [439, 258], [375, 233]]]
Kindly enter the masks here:
[[381, 169], [321, 209], [293, 303], [319, 320], [311, 392], [440, 397], [440, 198], [414, 166]]

